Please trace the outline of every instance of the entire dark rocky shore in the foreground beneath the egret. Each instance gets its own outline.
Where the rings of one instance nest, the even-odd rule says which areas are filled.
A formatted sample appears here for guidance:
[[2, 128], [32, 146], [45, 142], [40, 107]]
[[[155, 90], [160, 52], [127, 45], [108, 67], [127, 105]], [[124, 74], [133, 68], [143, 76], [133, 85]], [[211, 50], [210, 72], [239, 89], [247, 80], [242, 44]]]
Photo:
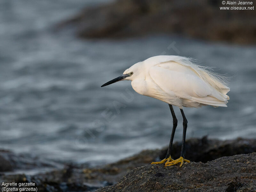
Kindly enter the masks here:
[[[8, 172], [1, 166], [2, 182], [33, 182], [38, 191], [255, 191], [256, 140], [189, 139], [183, 167], [163, 167], [150, 162], [164, 158], [166, 148], [144, 150], [116, 163], [88, 167], [66, 164], [53, 168], [36, 158], [0, 151], [0, 159], [12, 166]], [[181, 143], [173, 145], [172, 157], [180, 155]], [[8, 157], [6, 154], [12, 154]], [[245, 154], [245, 155], [239, 155]], [[15, 158], [14, 158], [15, 156]], [[10, 158], [12, 157], [12, 158]], [[21, 158], [22, 157], [22, 158]], [[19, 166], [16, 165], [20, 164]], [[1, 161], [3, 162], [3, 161]], [[3, 163], [2, 163], [3, 164]], [[34, 166], [34, 167], [33, 167]], [[51, 167], [51, 171], [17, 174], [19, 169]]]

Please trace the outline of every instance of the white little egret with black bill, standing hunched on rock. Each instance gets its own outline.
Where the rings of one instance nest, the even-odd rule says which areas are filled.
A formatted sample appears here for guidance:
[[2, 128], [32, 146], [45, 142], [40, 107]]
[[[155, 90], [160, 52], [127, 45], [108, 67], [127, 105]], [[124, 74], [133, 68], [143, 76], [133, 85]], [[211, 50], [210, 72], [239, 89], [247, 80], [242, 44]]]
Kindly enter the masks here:
[[[123, 75], [103, 84], [101, 87], [122, 80], [131, 80], [134, 91], [141, 95], [156, 98], [168, 103], [173, 119], [170, 144], [166, 157], [159, 162], [165, 166], [185, 162], [185, 139], [188, 121], [183, 107], [199, 108], [204, 105], [227, 107], [229, 87], [221, 75], [208, 71], [207, 68], [196, 65], [186, 57], [160, 55], [134, 64], [126, 69]], [[171, 158], [172, 142], [177, 127], [177, 118], [172, 105], [180, 108], [183, 117], [183, 136], [180, 158]]]

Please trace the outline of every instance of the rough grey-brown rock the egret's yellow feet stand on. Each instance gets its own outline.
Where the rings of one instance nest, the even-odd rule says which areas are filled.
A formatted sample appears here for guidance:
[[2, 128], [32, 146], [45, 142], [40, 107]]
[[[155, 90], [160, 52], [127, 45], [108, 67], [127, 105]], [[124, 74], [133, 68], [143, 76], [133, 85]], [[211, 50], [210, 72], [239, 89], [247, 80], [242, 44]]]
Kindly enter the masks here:
[[[221, 157], [207, 163], [133, 169], [114, 186], [97, 192], [140, 191], [256, 191], [256, 153]], [[165, 177], [155, 177], [161, 171]]]

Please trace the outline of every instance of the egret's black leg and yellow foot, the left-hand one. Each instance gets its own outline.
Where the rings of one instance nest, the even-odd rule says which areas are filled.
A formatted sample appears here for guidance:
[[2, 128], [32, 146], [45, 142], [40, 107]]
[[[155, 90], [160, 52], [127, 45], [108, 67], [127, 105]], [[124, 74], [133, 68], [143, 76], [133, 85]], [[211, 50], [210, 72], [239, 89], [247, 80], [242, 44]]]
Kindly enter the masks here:
[[172, 108], [172, 105], [168, 104], [169, 105], [169, 108], [171, 110], [171, 113], [172, 113], [172, 135], [171, 135], [171, 139], [170, 139], [170, 143], [169, 143], [169, 147], [168, 147], [168, 150], [167, 150], [167, 154], [166, 154], [166, 157], [162, 160], [162, 161], [159, 161], [159, 162], [152, 162], [151, 164], [161, 164], [161, 163], [164, 163], [166, 161], [166, 163], [170, 162], [170, 161], [173, 161], [172, 157], [171, 157], [171, 150], [172, 150], [172, 142], [173, 142], [173, 138], [174, 138], [174, 134], [175, 134], [175, 130], [176, 130], [176, 127], [177, 127], [177, 124], [178, 124], [178, 120], [175, 116], [175, 113], [174, 113], [174, 110]]

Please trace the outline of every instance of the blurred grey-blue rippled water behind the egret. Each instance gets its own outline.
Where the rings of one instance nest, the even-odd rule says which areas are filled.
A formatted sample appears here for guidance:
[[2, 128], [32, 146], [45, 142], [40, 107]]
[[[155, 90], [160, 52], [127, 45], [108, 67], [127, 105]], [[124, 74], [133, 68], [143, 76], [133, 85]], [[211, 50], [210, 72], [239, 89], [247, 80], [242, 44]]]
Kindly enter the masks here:
[[[0, 148], [93, 165], [168, 145], [166, 103], [137, 94], [128, 81], [100, 85], [138, 61], [177, 51], [233, 76], [228, 108], [184, 109], [187, 138], [256, 137], [256, 46], [160, 35], [81, 40], [70, 31], [53, 32], [59, 21], [102, 2], [0, 2]], [[182, 117], [174, 110], [178, 141]]]

